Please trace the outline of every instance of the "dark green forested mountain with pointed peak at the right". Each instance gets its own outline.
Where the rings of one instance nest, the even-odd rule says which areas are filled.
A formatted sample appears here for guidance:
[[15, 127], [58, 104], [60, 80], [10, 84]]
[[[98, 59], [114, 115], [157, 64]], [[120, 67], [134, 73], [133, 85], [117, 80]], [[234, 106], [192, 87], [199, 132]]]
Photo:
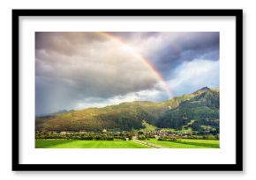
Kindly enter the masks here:
[[196, 91], [196, 96], [184, 100], [176, 108], [166, 112], [156, 126], [182, 129], [191, 127], [194, 131], [219, 131], [219, 91]]

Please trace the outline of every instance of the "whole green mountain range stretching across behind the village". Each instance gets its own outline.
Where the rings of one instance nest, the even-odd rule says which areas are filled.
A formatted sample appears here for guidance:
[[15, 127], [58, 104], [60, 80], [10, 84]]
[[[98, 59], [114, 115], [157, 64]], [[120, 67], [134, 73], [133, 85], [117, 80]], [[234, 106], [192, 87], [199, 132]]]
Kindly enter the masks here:
[[135, 101], [36, 118], [37, 131], [130, 131], [147, 126], [219, 130], [219, 90], [204, 87], [159, 103]]

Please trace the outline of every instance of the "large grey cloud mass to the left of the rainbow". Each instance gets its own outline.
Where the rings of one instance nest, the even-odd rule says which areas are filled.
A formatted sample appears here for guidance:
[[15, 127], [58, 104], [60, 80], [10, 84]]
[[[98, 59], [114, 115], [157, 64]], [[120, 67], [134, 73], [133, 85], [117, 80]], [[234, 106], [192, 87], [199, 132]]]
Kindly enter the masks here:
[[86, 97], [109, 98], [154, 89], [158, 83], [152, 70], [117, 41], [101, 40], [91, 32], [79, 33], [84, 43], [77, 32], [66, 36], [64, 32], [36, 36], [37, 113], [71, 107]]

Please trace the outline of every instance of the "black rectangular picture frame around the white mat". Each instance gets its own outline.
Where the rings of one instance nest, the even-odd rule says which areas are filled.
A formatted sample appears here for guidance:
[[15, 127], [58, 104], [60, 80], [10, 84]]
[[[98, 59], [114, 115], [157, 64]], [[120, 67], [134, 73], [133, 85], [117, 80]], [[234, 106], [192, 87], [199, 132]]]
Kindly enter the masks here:
[[[19, 163], [19, 17], [185, 16], [236, 18], [235, 164], [21, 164]], [[243, 10], [12, 10], [12, 170], [241, 171], [243, 170]]]

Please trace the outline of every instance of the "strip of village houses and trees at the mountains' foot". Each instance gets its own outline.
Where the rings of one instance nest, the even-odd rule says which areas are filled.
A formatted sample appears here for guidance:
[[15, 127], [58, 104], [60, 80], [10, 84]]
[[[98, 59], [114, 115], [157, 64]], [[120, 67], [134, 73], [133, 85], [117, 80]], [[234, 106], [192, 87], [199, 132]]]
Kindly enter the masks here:
[[103, 129], [101, 132], [36, 132], [36, 140], [60, 139], [60, 140], [178, 140], [178, 139], [202, 139], [218, 140], [218, 135], [199, 134], [197, 132], [172, 132], [162, 129], [150, 131], [108, 131]]

